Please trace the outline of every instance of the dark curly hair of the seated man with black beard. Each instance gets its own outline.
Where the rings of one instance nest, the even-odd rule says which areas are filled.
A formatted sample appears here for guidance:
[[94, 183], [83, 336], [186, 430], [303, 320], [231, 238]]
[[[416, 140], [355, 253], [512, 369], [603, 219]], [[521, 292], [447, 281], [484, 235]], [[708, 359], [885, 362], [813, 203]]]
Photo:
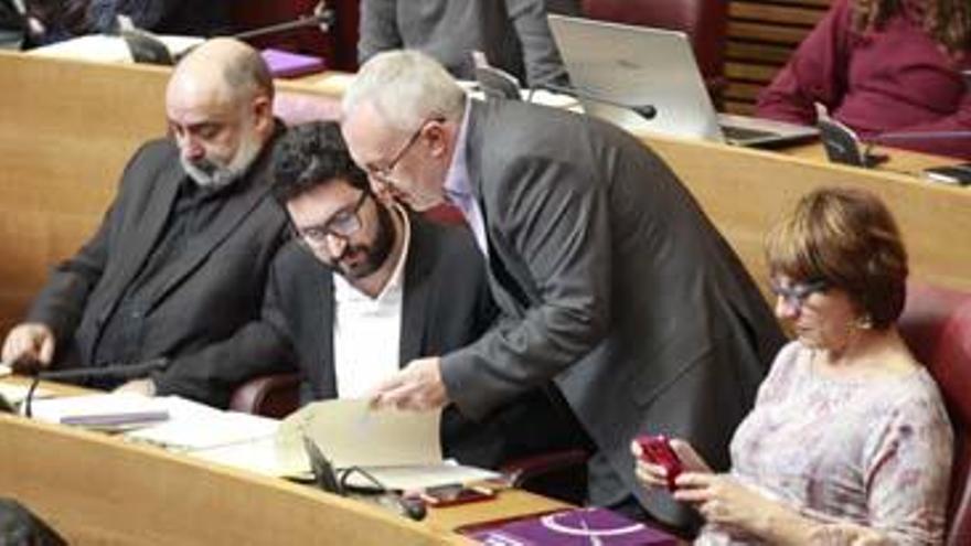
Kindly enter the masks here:
[[273, 156], [274, 196], [281, 204], [333, 180], [370, 192], [367, 174], [351, 159], [335, 121], [291, 127]]

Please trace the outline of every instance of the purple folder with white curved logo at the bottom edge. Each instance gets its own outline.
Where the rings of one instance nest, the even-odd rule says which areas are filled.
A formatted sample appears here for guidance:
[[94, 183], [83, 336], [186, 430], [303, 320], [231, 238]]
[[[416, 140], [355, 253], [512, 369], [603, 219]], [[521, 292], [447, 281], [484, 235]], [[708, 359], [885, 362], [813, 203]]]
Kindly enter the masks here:
[[605, 508], [577, 508], [469, 534], [489, 546], [675, 546], [677, 539]]

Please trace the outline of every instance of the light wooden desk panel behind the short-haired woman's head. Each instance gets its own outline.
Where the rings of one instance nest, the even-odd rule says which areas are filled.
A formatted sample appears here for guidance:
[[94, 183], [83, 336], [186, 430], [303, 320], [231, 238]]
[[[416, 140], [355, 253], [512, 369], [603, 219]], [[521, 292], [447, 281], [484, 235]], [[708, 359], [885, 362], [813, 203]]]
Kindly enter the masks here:
[[911, 174], [956, 160], [894, 151], [883, 169], [860, 169], [822, 161], [818, 144], [785, 154], [658, 136], [643, 140], [677, 173], [764, 289], [762, 243], [770, 227], [811, 190], [845, 185], [876, 193], [890, 208], [914, 278], [971, 290], [971, 245], [963, 243], [971, 233], [971, 190]]

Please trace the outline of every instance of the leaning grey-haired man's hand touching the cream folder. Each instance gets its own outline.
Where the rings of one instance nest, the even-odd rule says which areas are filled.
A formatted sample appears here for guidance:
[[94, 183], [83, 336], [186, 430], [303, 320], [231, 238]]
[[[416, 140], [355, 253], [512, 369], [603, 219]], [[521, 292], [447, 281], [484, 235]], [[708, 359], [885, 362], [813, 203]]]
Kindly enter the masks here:
[[427, 411], [445, 406], [448, 393], [441, 382], [441, 358], [431, 356], [409, 362], [404, 370], [381, 383], [369, 398], [375, 408]]

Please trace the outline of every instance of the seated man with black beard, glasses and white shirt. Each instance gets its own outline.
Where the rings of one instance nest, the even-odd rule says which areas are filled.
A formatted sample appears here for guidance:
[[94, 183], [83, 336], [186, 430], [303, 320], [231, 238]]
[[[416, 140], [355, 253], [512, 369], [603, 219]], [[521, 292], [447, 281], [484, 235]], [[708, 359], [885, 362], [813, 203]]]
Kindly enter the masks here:
[[[404, 363], [458, 349], [489, 328], [495, 310], [471, 234], [376, 199], [335, 122], [292, 128], [274, 174], [295, 240], [274, 260], [264, 322], [254, 328], [290, 342], [302, 403], [363, 397]], [[489, 468], [557, 448], [564, 439], [546, 426], [559, 420], [552, 411], [538, 389], [474, 424], [446, 407], [442, 448]]]

